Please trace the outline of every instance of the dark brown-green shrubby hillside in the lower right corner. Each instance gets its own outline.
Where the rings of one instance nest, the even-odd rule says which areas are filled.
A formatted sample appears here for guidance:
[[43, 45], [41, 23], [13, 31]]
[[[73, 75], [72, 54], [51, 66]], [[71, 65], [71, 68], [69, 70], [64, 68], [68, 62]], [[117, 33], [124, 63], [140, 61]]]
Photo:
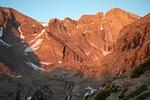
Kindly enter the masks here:
[[119, 77], [105, 79], [98, 91], [89, 95], [86, 100], [149, 100], [149, 65], [150, 61], [147, 61], [130, 74], [127, 72]]

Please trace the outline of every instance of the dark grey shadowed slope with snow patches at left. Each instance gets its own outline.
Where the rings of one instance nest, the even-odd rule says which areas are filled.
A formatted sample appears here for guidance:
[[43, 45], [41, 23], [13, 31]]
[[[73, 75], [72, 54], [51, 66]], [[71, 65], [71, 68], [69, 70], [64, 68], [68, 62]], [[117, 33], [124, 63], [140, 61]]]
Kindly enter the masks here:
[[19, 75], [38, 73], [32, 67], [41, 67], [39, 59], [34, 52], [25, 53], [24, 50], [29, 45], [19, 38], [18, 27], [19, 23], [12, 19], [8, 19], [6, 28], [3, 27], [3, 35], [0, 37], [0, 63]]

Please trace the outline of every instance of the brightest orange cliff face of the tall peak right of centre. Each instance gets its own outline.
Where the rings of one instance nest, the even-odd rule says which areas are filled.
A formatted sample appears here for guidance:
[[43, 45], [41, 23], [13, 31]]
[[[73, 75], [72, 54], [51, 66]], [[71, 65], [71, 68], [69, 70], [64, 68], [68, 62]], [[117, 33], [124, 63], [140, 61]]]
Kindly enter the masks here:
[[140, 17], [114, 8], [106, 13], [82, 16], [77, 23], [77, 30], [85, 34], [92, 46], [102, 49], [101, 51], [110, 51], [121, 35], [120, 30], [138, 18]]

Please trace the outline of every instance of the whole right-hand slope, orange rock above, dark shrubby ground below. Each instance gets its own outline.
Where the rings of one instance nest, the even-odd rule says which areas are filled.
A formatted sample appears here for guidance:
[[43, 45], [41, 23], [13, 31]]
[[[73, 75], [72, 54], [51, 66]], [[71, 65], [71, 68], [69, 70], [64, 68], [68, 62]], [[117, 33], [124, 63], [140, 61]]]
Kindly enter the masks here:
[[150, 15], [122, 32], [118, 45], [100, 67], [98, 74], [105, 77], [104, 84], [86, 100], [150, 99]]

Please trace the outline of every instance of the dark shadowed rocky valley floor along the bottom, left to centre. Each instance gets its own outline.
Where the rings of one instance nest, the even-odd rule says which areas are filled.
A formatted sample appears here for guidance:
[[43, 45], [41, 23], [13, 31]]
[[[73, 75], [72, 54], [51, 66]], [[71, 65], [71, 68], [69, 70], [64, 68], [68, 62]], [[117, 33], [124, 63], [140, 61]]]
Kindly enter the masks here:
[[[66, 68], [15, 79], [1, 76], [0, 89], [3, 91], [0, 91], [0, 97], [3, 96], [4, 100], [27, 100], [29, 97], [31, 100], [83, 100], [88, 86], [96, 88], [93, 81], [85, 79], [80, 72]], [[67, 99], [69, 97], [72, 99]]]

